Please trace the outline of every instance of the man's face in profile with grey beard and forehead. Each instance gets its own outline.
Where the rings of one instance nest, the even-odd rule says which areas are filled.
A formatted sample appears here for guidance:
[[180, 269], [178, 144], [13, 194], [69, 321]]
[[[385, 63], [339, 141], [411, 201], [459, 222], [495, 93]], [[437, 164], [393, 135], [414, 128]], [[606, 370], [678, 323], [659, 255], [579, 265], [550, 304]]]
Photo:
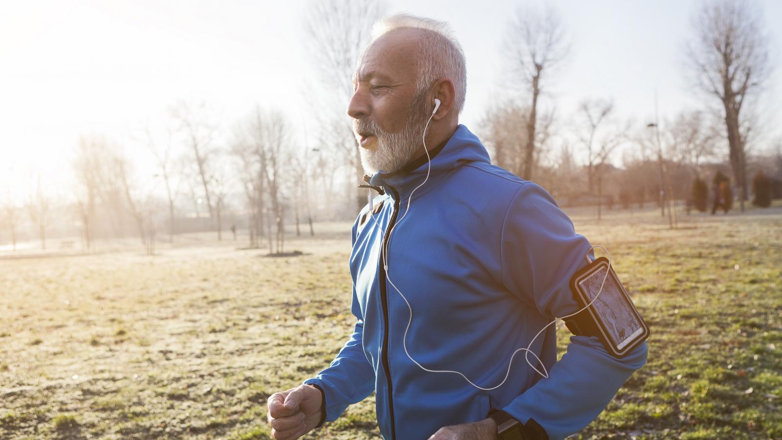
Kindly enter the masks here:
[[383, 35], [364, 52], [356, 71], [347, 112], [370, 174], [396, 171], [424, 153], [426, 93], [416, 94], [417, 36], [409, 29]]

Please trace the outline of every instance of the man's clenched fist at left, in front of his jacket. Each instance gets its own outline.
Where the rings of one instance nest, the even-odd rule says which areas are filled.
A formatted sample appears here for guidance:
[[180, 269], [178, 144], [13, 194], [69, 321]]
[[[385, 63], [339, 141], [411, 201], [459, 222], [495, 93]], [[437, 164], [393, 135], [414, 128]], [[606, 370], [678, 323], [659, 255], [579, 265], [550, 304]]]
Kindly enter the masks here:
[[274, 393], [268, 400], [271, 436], [277, 440], [296, 440], [307, 434], [321, 421], [321, 406], [321, 391], [310, 385]]

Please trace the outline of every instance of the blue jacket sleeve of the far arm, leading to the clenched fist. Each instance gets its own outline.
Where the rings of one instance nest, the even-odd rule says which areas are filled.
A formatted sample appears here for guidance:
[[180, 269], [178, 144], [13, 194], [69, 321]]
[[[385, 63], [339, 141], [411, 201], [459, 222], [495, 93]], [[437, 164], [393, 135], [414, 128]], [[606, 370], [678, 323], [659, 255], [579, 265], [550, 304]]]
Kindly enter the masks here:
[[[353, 225], [353, 243], [355, 241], [356, 225]], [[362, 346], [364, 318], [361, 315], [355, 285], [350, 310], [357, 319], [353, 334], [339, 350], [331, 366], [317, 373], [316, 377], [303, 382], [317, 385], [323, 391], [327, 422], [336, 420], [349, 405], [361, 402], [375, 391], [375, 370]]]

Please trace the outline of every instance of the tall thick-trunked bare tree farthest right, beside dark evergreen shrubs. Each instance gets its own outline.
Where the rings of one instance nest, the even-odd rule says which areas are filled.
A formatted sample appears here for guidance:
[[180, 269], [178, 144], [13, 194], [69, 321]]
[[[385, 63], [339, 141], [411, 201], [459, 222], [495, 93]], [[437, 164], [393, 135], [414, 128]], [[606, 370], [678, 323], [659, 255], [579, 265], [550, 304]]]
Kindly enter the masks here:
[[747, 198], [745, 104], [769, 78], [769, 38], [762, 11], [751, 2], [704, 2], [694, 17], [688, 60], [700, 88], [719, 99], [730, 148], [730, 165], [739, 189], [741, 211]]

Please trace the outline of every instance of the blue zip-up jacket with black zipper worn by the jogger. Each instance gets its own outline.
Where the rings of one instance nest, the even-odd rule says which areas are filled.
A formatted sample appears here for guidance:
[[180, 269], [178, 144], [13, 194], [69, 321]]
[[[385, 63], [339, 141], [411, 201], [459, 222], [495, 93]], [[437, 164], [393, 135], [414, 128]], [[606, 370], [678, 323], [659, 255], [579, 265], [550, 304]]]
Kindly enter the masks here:
[[[331, 366], [304, 383], [323, 390], [326, 421], [375, 391], [387, 440], [429, 438], [440, 427], [486, 419], [490, 409], [522, 423], [534, 419], [550, 438], [579, 431], [644, 365], [645, 342], [616, 359], [596, 337], [573, 336], [557, 361], [552, 325], [531, 348], [549, 377], [519, 352], [508, 380], [493, 391], [456, 373], [421, 370], [405, 354], [410, 309], [391, 282], [412, 308], [410, 355], [429, 370], [457, 370], [482, 388], [494, 387], [517, 348], [554, 316], [579, 309], [569, 280], [587, 265], [591, 247], [540, 186], [490, 164], [464, 125], [432, 153], [429, 181], [413, 194], [407, 215], [411, 191], [425, 179], [425, 157], [405, 171], [372, 176], [371, 185], [385, 194], [375, 197], [374, 215], [368, 205], [353, 225], [357, 323]], [[383, 240], [389, 240], [387, 273]]]

